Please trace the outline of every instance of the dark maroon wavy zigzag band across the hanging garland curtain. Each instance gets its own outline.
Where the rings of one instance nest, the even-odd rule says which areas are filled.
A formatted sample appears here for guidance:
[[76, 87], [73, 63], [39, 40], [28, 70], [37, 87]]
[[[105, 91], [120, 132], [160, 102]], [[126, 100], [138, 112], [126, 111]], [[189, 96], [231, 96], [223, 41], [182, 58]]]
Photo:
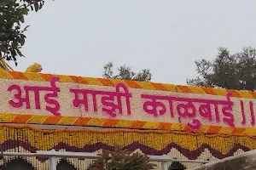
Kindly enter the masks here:
[[[6, 140], [2, 144], [3, 146], [6, 146], [9, 143], [9, 148], [3, 148], [3, 151], [6, 150], [12, 150], [12, 149], [23, 149], [25, 151], [29, 152], [36, 152], [37, 150], [40, 150], [40, 148], [34, 147], [31, 144], [23, 141], [17, 141], [17, 140]], [[71, 146], [69, 144], [65, 143], [59, 143], [56, 145], [53, 145], [53, 148], [55, 150], [65, 150], [65, 151], [75, 151], [79, 150], [79, 152], [99, 152], [100, 150], [113, 150], [114, 147], [112, 145], [108, 144], [103, 144], [102, 142], [96, 143], [96, 144], [86, 144], [84, 147], [77, 147], [77, 146]], [[165, 148], [162, 150], [155, 150], [152, 147], [148, 147], [147, 145], [140, 144], [139, 142], [133, 142], [131, 144], [128, 144], [123, 147], [124, 149], [127, 150], [141, 150], [144, 154], [147, 155], [157, 155], [157, 156], [162, 156], [162, 155], [171, 155], [172, 157], [177, 156], [177, 152], [180, 152], [181, 155], [186, 157], [189, 160], [196, 160], [201, 156], [202, 152], [206, 152], [206, 149], [209, 150], [208, 152], [211, 153], [212, 156], [214, 156], [217, 159], [224, 159], [225, 157], [229, 156], [234, 156], [234, 153], [237, 150], [243, 150], [243, 151], [249, 151], [249, 148], [242, 145], [242, 144], [234, 144], [233, 147], [230, 148], [230, 150], [227, 153], [222, 153], [220, 150], [215, 150], [211, 145], [209, 144], [201, 144], [197, 149], [195, 150], [187, 150], [184, 148], [182, 145], [179, 144], [168, 144], [166, 145]], [[172, 152], [172, 149], [177, 150], [176, 153]], [[22, 151], [23, 151], [22, 150]], [[18, 151], [18, 150], [17, 150]], [[21, 151], [21, 150], [19, 150]], [[176, 155], [176, 156], [175, 156]], [[210, 157], [210, 156], [209, 156]], [[37, 157], [38, 161], [44, 162], [47, 161], [49, 158], [48, 157]], [[200, 158], [199, 158], [200, 159]]]

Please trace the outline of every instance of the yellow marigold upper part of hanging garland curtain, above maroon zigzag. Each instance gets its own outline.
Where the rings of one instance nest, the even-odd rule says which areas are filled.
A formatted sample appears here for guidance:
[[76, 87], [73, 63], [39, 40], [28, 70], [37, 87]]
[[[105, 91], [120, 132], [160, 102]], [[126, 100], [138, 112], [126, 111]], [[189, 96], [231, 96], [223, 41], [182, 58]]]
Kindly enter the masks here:
[[[162, 153], [161, 150], [166, 150], [166, 147], [171, 147], [172, 144], [176, 145], [175, 147], [181, 147], [188, 151], [198, 150], [202, 145], [207, 145], [207, 147], [212, 148], [212, 150], [218, 150], [223, 154], [227, 154], [230, 150], [233, 150], [234, 147], [238, 147], [237, 144], [246, 147], [247, 150], [256, 148], [256, 140], [252, 137], [171, 131], [131, 129], [104, 131], [89, 129], [41, 130], [28, 125], [1, 125], [0, 133], [3, 134], [0, 137], [2, 144], [7, 141], [12, 141], [12, 144], [15, 143], [16, 146], [19, 146], [21, 143], [25, 145], [28, 144], [30, 148], [34, 148], [33, 150], [50, 150], [55, 147], [63, 149], [60, 144], [66, 144], [68, 150], [78, 151], [84, 150], [83, 148], [87, 148], [89, 145], [101, 148], [104, 144], [106, 147], [113, 147], [115, 144], [129, 147], [129, 145], [135, 144], [137, 147], [139, 145], [139, 147], [146, 147], [148, 148], [147, 150], [152, 150], [151, 152], [155, 152], [156, 155], [159, 155]], [[7, 142], [6, 144], [9, 143]], [[101, 146], [97, 146], [97, 144]], [[74, 148], [71, 149], [70, 147]]]

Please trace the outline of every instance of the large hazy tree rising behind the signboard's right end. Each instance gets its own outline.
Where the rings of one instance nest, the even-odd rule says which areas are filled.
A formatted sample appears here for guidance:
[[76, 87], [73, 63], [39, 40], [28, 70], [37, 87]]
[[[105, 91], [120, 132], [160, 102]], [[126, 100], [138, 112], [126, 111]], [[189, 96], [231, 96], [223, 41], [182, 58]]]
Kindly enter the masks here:
[[230, 54], [227, 48], [218, 48], [215, 59], [195, 61], [198, 76], [187, 80], [189, 85], [212, 88], [256, 89], [256, 49], [243, 48]]

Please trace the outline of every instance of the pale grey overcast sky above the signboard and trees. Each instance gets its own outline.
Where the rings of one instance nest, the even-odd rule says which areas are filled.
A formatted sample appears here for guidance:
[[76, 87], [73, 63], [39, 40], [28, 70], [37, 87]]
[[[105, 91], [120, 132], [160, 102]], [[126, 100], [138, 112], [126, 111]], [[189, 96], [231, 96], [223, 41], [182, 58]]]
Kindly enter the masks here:
[[256, 47], [255, 0], [46, 0], [26, 17], [26, 58], [55, 74], [102, 77], [102, 65], [148, 68], [153, 82], [185, 84], [195, 59]]

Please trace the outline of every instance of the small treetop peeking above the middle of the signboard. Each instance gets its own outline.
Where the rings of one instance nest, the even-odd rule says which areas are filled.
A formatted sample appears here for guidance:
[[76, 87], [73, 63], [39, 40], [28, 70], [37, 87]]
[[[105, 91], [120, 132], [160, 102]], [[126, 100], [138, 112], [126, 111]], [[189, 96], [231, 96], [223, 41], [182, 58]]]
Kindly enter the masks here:
[[143, 69], [142, 71], [136, 73], [131, 71], [131, 67], [126, 65], [119, 66], [118, 74], [113, 75], [113, 62], [109, 62], [108, 64], [103, 66], [103, 75], [102, 77], [105, 78], [113, 78], [113, 79], [120, 79], [120, 80], [134, 80], [140, 82], [150, 82], [152, 78], [152, 74], [150, 73], [149, 69]]

